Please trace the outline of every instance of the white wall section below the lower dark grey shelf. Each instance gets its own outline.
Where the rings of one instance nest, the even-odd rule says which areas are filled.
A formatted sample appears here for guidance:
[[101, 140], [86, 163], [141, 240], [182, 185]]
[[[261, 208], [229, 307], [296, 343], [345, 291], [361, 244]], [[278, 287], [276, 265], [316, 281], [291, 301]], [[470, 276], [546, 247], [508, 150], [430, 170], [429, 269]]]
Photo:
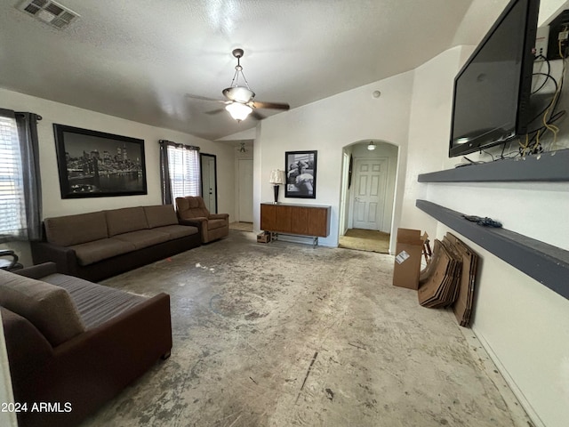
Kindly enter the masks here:
[[[453, 194], [458, 197], [457, 192]], [[569, 420], [569, 301], [443, 224], [437, 236], [447, 231], [482, 259], [473, 332], [535, 425], [565, 427]]]

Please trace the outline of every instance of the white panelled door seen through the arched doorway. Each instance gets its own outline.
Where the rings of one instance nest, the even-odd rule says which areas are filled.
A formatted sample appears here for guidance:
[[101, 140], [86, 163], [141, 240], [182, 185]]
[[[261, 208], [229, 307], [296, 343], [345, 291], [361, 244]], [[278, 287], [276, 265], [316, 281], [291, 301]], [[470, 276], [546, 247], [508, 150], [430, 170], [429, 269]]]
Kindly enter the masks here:
[[388, 176], [388, 159], [357, 158], [354, 167], [353, 227], [381, 230]]

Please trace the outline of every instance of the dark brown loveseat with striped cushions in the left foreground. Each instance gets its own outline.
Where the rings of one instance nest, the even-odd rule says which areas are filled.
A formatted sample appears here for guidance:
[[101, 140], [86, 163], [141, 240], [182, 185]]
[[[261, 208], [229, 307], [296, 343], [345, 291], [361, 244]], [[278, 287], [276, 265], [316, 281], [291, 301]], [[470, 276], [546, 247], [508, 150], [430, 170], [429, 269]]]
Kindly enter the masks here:
[[14, 401], [27, 405], [20, 427], [80, 423], [172, 349], [168, 294], [96, 285], [52, 262], [0, 270], [0, 310]]

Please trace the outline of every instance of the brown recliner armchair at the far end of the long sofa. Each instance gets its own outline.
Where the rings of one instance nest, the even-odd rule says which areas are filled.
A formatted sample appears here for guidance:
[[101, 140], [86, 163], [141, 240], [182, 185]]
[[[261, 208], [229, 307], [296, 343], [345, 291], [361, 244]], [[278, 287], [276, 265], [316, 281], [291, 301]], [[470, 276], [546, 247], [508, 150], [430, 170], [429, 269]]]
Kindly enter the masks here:
[[176, 197], [176, 213], [180, 224], [193, 225], [199, 229], [202, 243], [229, 234], [229, 214], [210, 214], [202, 197]]

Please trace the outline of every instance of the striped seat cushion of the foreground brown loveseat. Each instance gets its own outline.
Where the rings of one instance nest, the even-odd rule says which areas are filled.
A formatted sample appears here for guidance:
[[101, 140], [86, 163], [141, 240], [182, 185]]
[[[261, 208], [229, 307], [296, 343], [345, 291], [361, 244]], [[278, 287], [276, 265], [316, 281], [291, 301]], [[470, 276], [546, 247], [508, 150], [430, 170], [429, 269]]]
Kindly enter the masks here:
[[60, 273], [50, 274], [42, 280], [67, 289], [87, 330], [108, 322], [148, 299], [146, 296], [130, 294]]

